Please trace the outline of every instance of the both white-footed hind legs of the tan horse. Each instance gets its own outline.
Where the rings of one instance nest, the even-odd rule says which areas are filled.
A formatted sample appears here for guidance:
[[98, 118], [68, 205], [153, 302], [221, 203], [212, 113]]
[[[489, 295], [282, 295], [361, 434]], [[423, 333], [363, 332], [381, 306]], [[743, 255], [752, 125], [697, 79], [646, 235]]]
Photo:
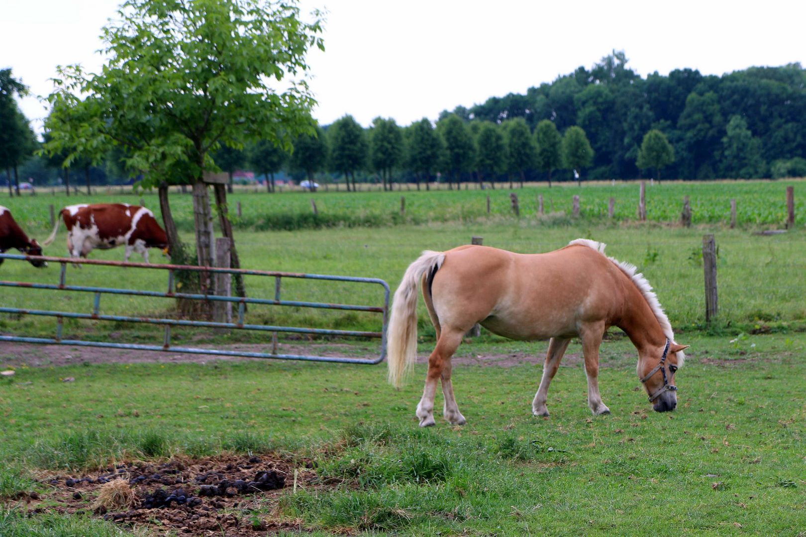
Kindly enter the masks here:
[[[434, 396], [437, 393], [437, 382], [442, 379], [442, 393], [445, 395], [445, 417], [451, 423], [464, 423], [464, 417], [459, 413], [459, 407], [453, 395], [451, 386], [451, 357], [462, 342], [464, 332], [442, 327], [437, 346], [428, 358], [428, 374], [426, 387], [422, 390], [422, 399], [417, 406], [417, 417], [420, 427], [434, 425]], [[450, 400], [449, 400], [450, 399]], [[455, 420], [455, 421], [453, 421]]]

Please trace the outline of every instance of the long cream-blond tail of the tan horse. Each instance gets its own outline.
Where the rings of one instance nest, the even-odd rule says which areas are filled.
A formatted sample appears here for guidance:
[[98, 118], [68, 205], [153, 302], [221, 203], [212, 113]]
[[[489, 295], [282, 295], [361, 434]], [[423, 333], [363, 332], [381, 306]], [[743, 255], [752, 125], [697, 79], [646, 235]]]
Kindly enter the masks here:
[[426, 250], [409, 265], [392, 304], [387, 330], [389, 382], [400, 387], [403, 377], [417, 361], [417, 290], [422, 275], [436, 270], [445, 254]]

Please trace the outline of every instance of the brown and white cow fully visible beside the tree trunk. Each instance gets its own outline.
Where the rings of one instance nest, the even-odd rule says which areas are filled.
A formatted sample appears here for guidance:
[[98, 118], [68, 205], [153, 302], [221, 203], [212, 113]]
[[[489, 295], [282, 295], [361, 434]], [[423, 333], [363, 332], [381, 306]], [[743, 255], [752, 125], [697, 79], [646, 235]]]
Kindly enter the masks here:
[[67, 250], [71, 258], [87, 257], [98, 248], [108, 250], [126, 246], [128, 261], [131, 252], [143, 255], [148, 262], [148, 249], [161, 248], [168, 253], [168, 237], [154, 218], [154, 213], [145, 207], [125, 203], [68, 205], [61, 209], [48, 240], [48, 246], [56, 238], [59, 221], [67, 226]]

